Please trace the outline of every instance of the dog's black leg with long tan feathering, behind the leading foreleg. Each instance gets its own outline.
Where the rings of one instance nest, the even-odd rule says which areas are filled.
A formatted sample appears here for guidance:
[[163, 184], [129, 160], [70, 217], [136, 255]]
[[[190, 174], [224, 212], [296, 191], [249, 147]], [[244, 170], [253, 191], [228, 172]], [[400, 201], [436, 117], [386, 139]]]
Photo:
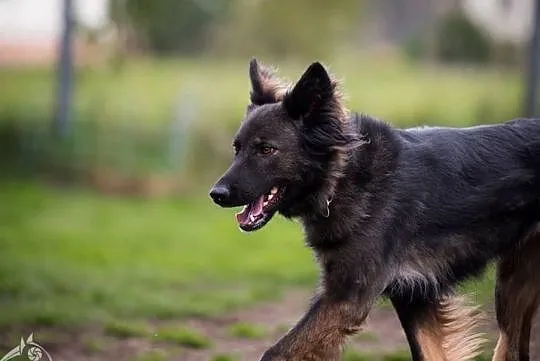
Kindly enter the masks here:
[[413, 361], [464, 361], [479, 354], [483, 342], [473, 328], [478, 309], [460, 297], [416, 299], [391, 297]]

